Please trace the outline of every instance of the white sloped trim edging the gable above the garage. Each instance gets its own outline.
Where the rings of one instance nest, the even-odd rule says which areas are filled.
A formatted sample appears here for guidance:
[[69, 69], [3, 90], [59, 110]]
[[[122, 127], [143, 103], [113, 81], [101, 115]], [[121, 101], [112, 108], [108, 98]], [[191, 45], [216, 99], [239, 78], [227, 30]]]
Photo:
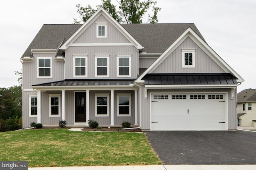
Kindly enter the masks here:
[[152, 63], [148, 69], [137, 78], [136, 82], [142, 82], [141, 79], [147, 73], [152, 73], [156, 67], [158, 67], [187, 37], [190, 37], [195, 43], [197, 42], [196, 44], [198, 47], [211, 57], [211, 59], [213, 59], [225, 72], [230, 72], [236, 76], [238, 78], [237, 82], [244, 82], [243, 78], [239, 76], [215, 51], [213, 51], [212, 48], [190, 27], [188, 27], [188, 29], [186, 29], [186, 31], [184, 31], [184, 33], [182, 33], [180, 37], [178, 37], [178, 39], [176, 39], [176, 41], [174, 41], [174, 43], [172, 43], [172, 45], [170, 45], [170, 47], [168, 47], [168, 49], [166, 49], [166, 51], [164, 51], [164, 53], [162, 53], [162, 55], [160, 55], [160, 57], [158, 57], [158, 59], [156, 59], [156, 61], [154, 61], [154, 63]]

